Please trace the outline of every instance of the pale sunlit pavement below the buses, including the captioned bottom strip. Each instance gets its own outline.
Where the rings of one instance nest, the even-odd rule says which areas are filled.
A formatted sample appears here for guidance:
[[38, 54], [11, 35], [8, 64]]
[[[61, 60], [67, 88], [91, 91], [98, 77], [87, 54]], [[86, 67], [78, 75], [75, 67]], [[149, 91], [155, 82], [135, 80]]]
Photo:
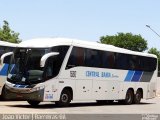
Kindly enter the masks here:
[[[74, 102], [66, 108], [50, 102], [33, 108], [25, 101], [1, 101], [0, 120], [19, 120], [8, 114], [30, 115], [30, 119], [21, 120], [160, 120], [160, 97], [142, 100], [138, 105], [122, 105], [118, 102], [97, 104], [92, 101]], [[48, 119], [48, 115], [52, 115], [52, 119]]]

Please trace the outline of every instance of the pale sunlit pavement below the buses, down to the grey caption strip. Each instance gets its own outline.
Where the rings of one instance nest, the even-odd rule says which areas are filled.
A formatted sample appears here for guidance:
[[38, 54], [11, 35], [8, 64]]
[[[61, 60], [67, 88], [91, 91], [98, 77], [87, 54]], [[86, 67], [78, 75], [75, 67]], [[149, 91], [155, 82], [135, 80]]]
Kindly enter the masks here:
[[33, 108], [25, 101], [0, 102], [0, 113], [25, 113], [25, 114], [160, 114], [160, 98], [142, 100], [141, 104], [122, 105], [97, 104], [96, 102], [71, 103], [69, 107], [56, 107], [54, 103], [42, 102]]

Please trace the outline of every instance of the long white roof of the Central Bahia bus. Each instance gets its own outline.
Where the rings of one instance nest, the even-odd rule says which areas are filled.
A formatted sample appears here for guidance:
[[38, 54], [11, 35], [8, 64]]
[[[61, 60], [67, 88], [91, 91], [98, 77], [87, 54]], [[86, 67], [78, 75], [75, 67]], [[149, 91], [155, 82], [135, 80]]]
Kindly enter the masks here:
[[140, 55], [140, 56], [147, 56], [147, 57], [154, 57], [157, 58], [156, 55], [142, 53], [142, 52], [135, 52], [131, 50], [127, 50], [124, 48], [115, 47], [113, 45], [101, 44], [98, 42], [88, 42], [82, 41], [77, 39], [69, 39], [69, 38], [37, 38], [23, 41], [19, 44], [19, 47], [26, 47], [26, 48], [47, 48], [53, 47], [57, 45], [73, 45], [78, 47], [90, 48], [90, 49], [97, 49], [97, 50], [105, 50], [105, 51], [113, 51], [118, 53], [126, 53], [126, 54], [133, 54], [133, 55]]

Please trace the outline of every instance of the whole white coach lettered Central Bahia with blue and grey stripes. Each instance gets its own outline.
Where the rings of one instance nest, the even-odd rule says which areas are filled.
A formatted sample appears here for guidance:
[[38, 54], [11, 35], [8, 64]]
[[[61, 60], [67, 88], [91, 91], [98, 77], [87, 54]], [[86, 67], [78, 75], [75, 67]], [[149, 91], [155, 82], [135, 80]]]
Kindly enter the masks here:
[[67, 38], [21, 42], [10, 58], [5, 99], [139, 104], [156, 96], [157, 57], [112, 45]]

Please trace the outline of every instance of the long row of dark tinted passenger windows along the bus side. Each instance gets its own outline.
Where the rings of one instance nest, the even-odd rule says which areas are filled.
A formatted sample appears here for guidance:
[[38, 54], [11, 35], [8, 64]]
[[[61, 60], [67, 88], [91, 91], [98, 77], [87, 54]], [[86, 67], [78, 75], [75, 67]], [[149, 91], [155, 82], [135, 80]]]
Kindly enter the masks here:
[[154, 71], [157, 66], [157, 59], [74, 47], [69, 57], [67, 68], [76, 66]]

